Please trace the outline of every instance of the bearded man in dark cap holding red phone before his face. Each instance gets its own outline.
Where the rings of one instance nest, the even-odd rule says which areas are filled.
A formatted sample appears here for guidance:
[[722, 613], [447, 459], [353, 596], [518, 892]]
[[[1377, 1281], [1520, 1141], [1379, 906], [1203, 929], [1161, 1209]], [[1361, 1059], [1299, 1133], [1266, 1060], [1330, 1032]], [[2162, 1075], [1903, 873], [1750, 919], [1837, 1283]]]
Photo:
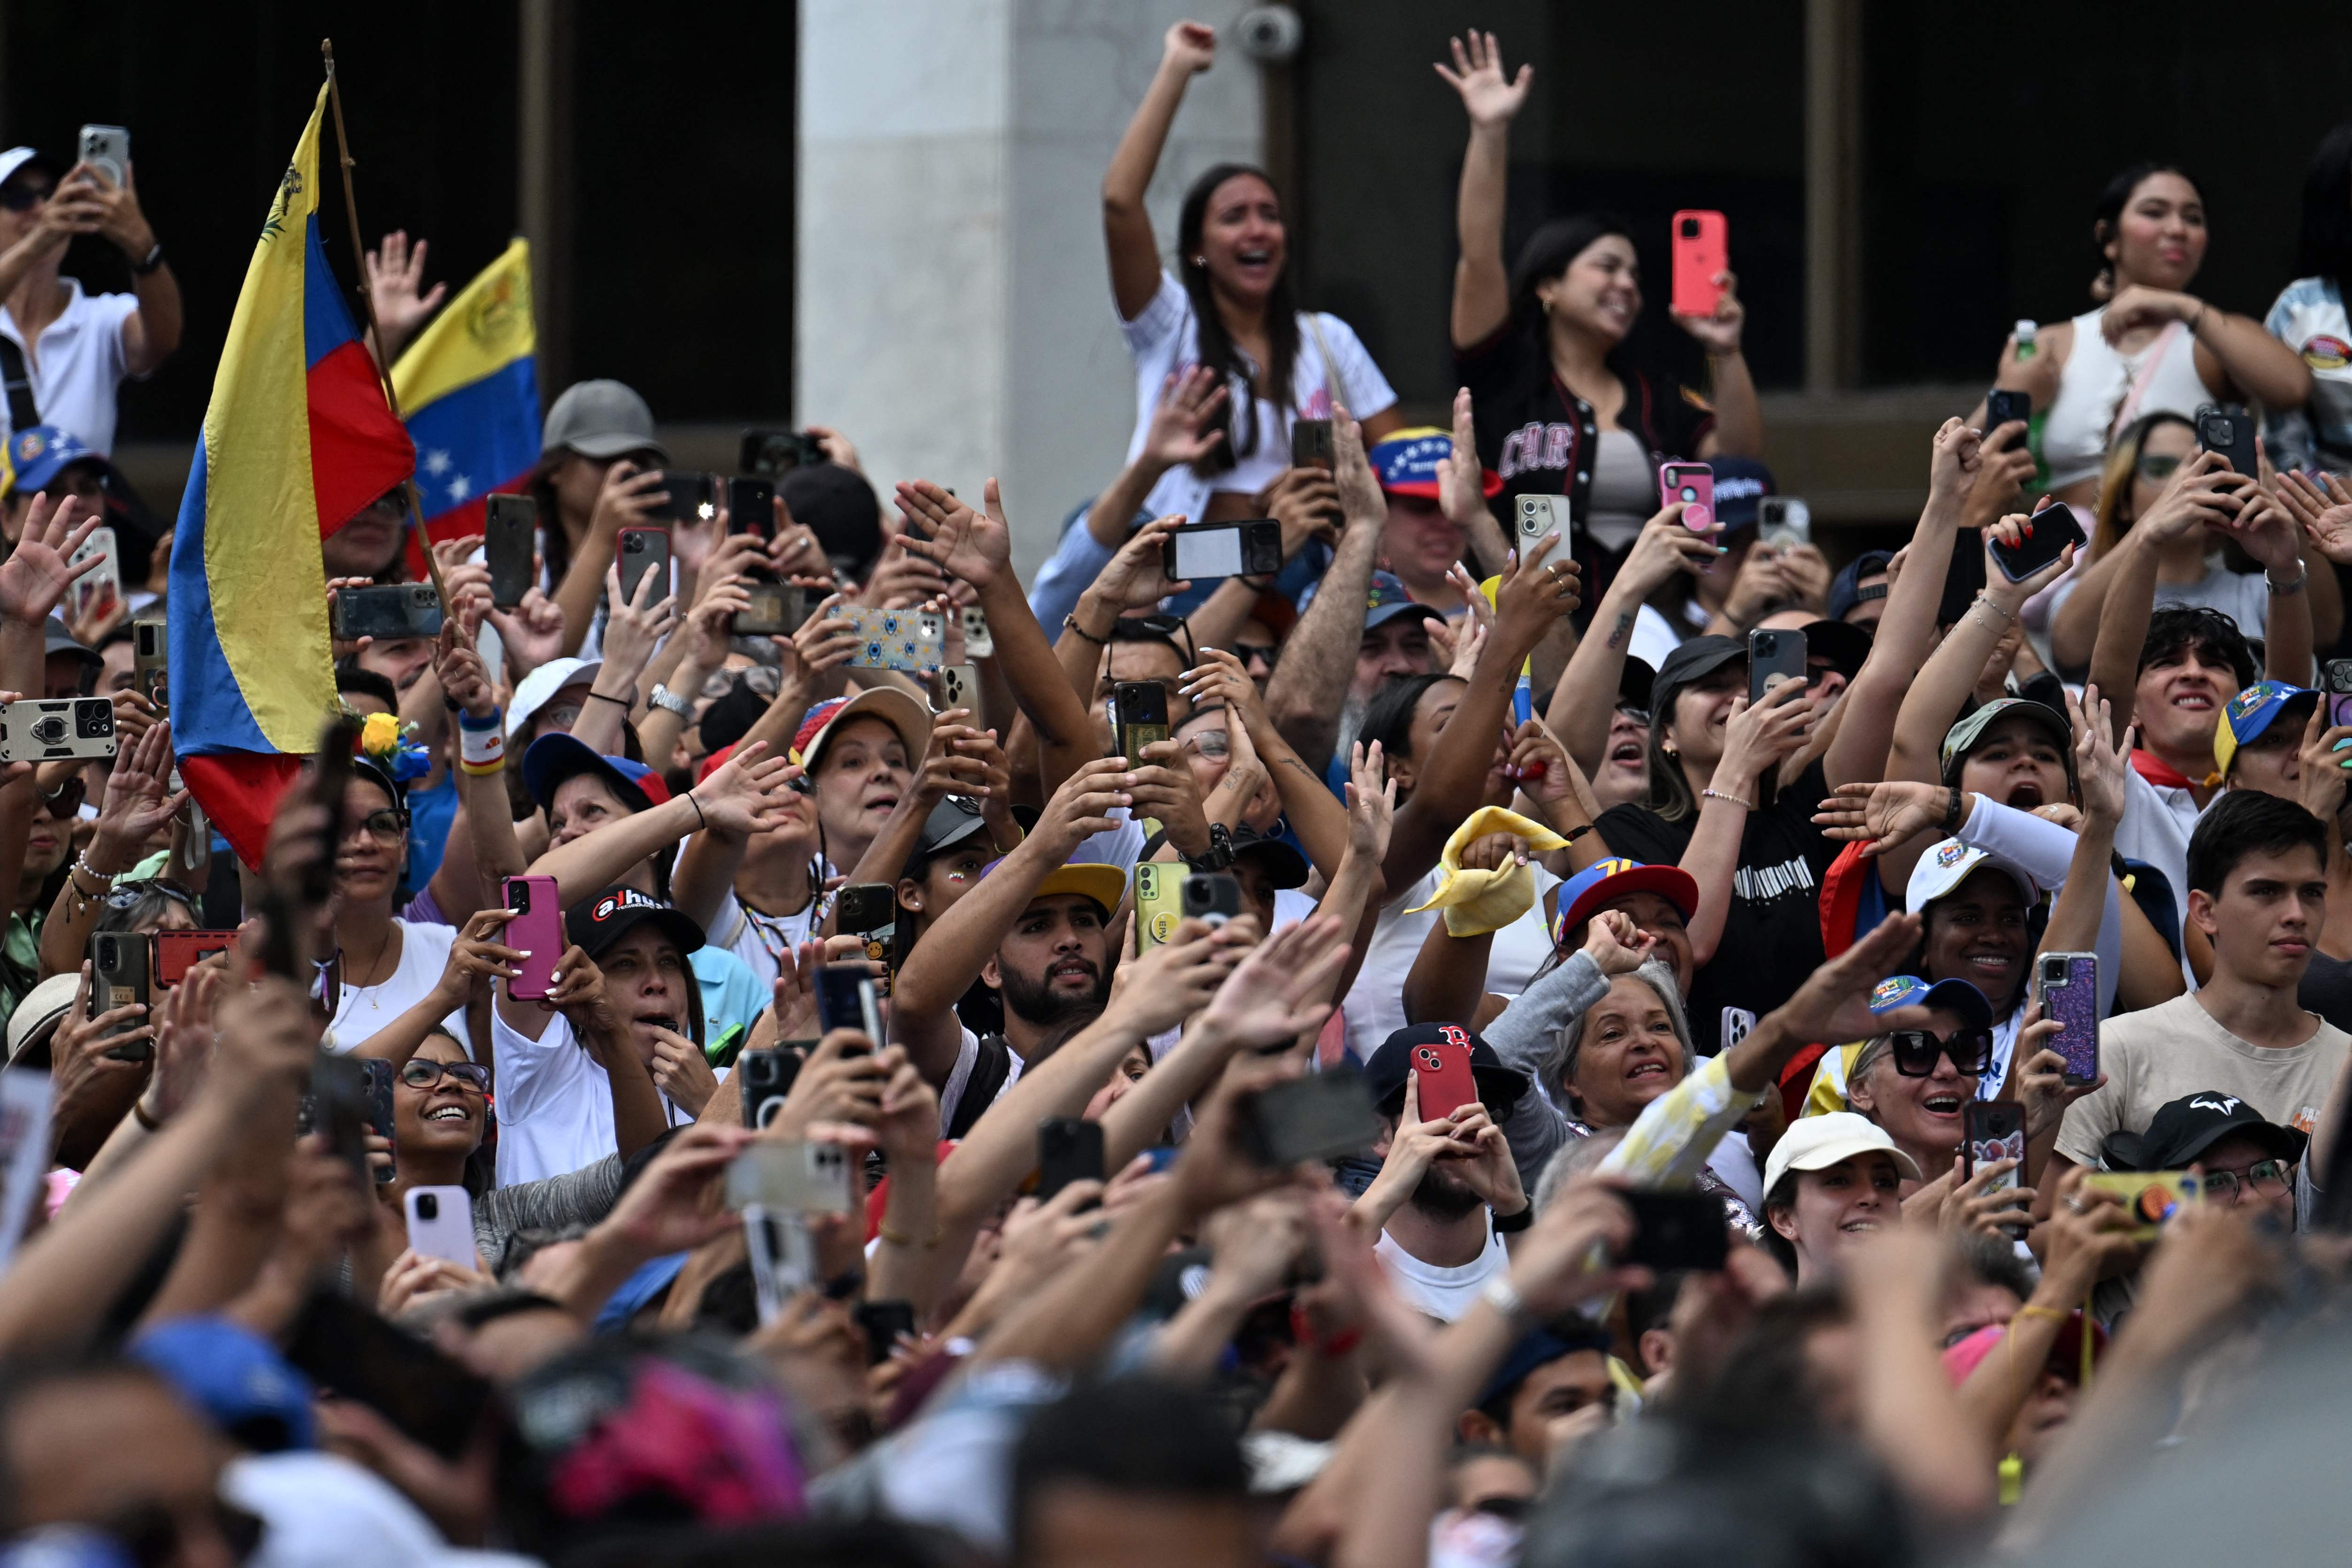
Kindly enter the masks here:
[[[1423, 1119], [1414, 1051], [1470, 1051], [1479, 1103]], [[1348, 1222], [1381, 1232], [1374, 1253], [1397, 1293], [1451, 1324], [1489, 1279], [1510, 1269], [1503, 1237], [1526, 1229], [1536, 1211], [1519, 1187], [1510, 1143], [1496, 1117], [1526, 1093], [1526, 1074], [1454, 1023], [1416, 1023], [1390, 1034], [1364, 1063], [1364, 1086], [1381, 1110], [1381, 1173], [1348, 1211]], [[1489, 1213], [1494, 1220], [1489, 1222]]]

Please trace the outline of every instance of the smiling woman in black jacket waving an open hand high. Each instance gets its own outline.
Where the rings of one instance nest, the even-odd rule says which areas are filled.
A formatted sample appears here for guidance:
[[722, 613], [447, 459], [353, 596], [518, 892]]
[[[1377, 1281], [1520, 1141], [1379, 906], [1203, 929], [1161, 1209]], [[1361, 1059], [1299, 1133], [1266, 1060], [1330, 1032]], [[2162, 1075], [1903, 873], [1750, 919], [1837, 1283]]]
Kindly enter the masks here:
[[[1651, 367], [1635, 367], [1628, 336], [1642, 315], [1637, 247], [1613, 214], [1576, 214], [1538, 228], [1503, 270], [1503, 188], [1510, 122], [1526, 103], [1534, 66], [1503, 75], [1494, 33], [1454, 42], [1437, 75], [1470, 115], [1456, 226], [1454, 362], [1477, 397], [1479, 454], [1503, 494], [1569, 496], [1588, 602], [1658, 510], [1663, 458], [1759, 456], [1764, 416], [1729, 273], [1708, 317], [1677, 315], [1708, 355], [1715, 407]], [[1505, 501], [1510, 515], [1512, 501]]]

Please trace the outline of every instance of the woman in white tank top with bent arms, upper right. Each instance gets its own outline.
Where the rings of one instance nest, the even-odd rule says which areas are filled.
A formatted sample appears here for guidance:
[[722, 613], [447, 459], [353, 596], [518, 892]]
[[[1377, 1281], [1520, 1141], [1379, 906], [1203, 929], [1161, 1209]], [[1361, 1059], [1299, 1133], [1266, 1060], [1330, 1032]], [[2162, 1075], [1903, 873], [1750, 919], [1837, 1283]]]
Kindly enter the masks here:
[[[2260, 400], [2296, 409], [2312, 374], [2244, 315], [2187, 292], [2204, 266], [2204, 195], [2171, 165], [2140, 162], [2091, 209], [2096, 308], [2042, 327], [2020, 353], [2002, 343], [1997, 390], [2027, 393], [2042, 421], [2049, 494], [2089, 508], [2114, 435], [2147, 414], [2194, 418], [2199, 404]], [[1969, 418], [1983, 430], [1985, 407]]]

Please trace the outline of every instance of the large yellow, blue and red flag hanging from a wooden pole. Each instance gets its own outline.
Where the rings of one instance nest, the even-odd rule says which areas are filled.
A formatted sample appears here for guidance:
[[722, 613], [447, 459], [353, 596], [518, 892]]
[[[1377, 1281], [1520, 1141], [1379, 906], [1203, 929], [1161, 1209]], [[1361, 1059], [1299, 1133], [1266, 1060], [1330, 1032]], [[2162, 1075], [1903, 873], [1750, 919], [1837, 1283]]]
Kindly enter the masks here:
[[245, 268], [172, 538], [172, 743], [247, 865], [336, 703], [318, 541], [416, 463], [318, 242], [325, 113], [320, 87]]

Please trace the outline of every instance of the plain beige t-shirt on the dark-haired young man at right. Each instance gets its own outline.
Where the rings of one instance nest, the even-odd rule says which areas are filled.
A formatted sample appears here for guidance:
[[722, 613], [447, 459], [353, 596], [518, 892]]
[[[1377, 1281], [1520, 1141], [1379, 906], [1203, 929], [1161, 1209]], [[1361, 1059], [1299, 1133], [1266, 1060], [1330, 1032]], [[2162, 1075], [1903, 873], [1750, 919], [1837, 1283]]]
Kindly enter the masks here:
[[2157, 1110], [2206, 1088], [2237, 1095], [2265, 1121], [2319, 1126], [2319, 1107], [2352, 1051], [2352, 1034], [2312, 1018], [2300, 1046], [2253, 1046], [2213, 1023], [2197, 997], [2110, 1018], [2098, 1030], [2098, 1067], [2107, 1086], [2065, 1112], [2058, 1152], [2098, 1166], [2098, 1145], [2119, 1128], [2145, 1131]]

